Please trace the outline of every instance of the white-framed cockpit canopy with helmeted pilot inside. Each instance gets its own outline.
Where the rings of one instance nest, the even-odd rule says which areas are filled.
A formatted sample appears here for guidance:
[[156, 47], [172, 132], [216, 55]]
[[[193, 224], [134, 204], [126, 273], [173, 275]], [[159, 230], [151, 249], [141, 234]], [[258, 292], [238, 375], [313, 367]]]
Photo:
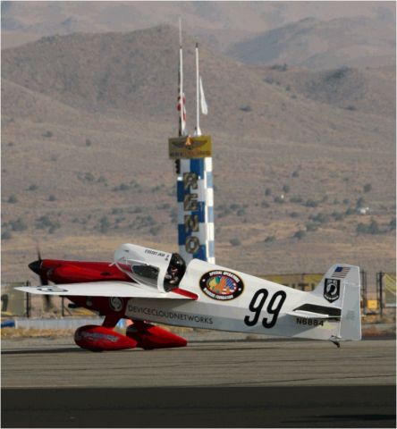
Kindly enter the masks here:
[[186, 271], [181, 255], [134, 244], [117, 248], [114, 264], [134, 282], [160, 291], [177, 288]]

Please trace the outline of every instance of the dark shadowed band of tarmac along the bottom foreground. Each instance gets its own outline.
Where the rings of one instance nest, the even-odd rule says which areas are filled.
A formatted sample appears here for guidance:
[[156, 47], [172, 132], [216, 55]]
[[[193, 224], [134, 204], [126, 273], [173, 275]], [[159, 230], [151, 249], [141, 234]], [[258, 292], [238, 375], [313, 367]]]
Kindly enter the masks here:
[[395, 427], [395, 386], [2, 389], [2, 427]]

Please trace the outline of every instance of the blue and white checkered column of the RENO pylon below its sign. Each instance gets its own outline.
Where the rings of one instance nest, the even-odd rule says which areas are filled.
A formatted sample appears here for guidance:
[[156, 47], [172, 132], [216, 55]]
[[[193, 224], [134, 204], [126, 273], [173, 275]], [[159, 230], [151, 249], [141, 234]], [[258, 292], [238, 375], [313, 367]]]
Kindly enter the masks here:
[[[194, 172], [198, 176], [197, 189], [185, 187], [183, 174]], [[187, 189], [185, 189], [187, 188]], [[197, 201], [197, 210], [186, 211], [183, 201], [187, 194], [196, 194], [193, 198]], [[191, 259], [201, 259], [215, 264], [215, 241], [214, 241], [214, 189], [212, 181], [212, 158], [181, 159], [181, 172], [177, 181], [178, 198], [178, 243], [179, 252], [186, 263]], [[185, 225], [185, 216], [197, 216], [199, 219], [199, 231], [192, 231], [189, 225]], [[199, 246], [190, 248], [186, 245], [190, 237], [195, 239]], [[194, 253], [190, 253], [191, 250]]]

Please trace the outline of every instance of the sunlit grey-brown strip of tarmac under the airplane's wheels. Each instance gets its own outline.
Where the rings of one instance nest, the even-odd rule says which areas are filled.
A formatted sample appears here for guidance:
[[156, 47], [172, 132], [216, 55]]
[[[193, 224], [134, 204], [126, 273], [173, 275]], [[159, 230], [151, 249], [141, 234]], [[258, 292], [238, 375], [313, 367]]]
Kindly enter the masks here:
[[395, 384], [393, 340], [344, 342], [341, 349], [328, 341], [192, 341], [182, 349], [103, 353], [69, 338], [26, 342], [2, 341], [3, 387]]

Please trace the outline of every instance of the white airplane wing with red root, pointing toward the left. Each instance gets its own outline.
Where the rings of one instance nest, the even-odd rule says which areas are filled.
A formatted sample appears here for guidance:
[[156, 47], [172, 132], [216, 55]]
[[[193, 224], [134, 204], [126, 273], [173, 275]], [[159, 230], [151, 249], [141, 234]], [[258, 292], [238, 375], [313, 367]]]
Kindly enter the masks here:
[[49, 286], [23, 286], [15, 288], [22, 292], [35, 293], [38, 295], [84, 296], [84, 297], [120, 297], [120, 298], [153, 298], [153, 299], [198, 299], [188, 292], [182, 294], [175, 290], [170, 292], [159, 292], [150, 290], [129, 282], [85, 282], [70, 284], [52, 284]]

